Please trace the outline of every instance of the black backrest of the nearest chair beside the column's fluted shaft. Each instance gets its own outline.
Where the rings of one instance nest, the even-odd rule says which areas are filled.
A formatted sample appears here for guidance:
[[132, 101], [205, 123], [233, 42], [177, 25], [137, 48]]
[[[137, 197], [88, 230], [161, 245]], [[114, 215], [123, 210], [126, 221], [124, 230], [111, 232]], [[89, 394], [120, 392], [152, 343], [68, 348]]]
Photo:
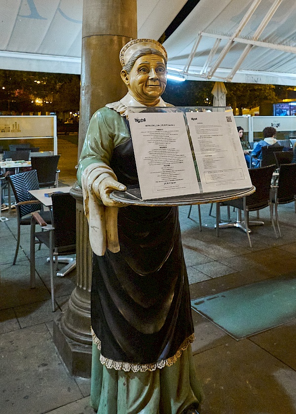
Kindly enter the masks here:
[[73, 247], [76, 244], [76, 201], [69, 193], [52, 194], [54, 245]]

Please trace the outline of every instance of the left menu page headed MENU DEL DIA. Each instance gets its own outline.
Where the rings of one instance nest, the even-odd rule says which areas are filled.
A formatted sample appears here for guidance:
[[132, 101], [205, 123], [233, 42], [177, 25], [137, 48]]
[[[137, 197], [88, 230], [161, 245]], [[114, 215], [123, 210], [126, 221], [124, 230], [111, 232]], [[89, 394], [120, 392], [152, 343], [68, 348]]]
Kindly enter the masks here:
[[129, 113], [144, 200], [199, 193], [183, 113]]

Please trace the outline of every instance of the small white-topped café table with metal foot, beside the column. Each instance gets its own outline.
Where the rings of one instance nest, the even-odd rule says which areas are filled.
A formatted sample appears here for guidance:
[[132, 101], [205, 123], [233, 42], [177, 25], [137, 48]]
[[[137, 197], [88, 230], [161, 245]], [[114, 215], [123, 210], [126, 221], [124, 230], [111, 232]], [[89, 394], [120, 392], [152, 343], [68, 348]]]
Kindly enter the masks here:
[[[45, 196], [45, 194], [52, 194], [54, 192], [70, 192], [72, 187], [58, 187], [58, 188], [40, 188], [38, 190], [29, 190], [30, 194], [34, 195], [37, 200], [39, 200], [45, 207], [48, 207], [50, 210], [52, 207], [51, 197]], [[47, 258], [47, 262], [49, 262], [49, 258]], [[57, 272], [57, 276], [65, 276], [67, 273], [71, 272], [76, 267], [76, 259], [69, 258], [66, 256], [59, 256], [58, 262], [60, 263], [68, 263], [64, 266], [61, 270]]]

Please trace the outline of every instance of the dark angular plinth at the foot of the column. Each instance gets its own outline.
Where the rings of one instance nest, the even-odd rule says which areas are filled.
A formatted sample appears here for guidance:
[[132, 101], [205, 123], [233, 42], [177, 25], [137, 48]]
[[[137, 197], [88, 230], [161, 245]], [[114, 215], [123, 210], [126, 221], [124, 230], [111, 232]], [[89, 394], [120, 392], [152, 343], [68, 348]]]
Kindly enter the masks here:
[[90, 378], [92, 345], [68, 338], [61, 329], [61, 317], [53, 322], [53, 342], [71, 375]]

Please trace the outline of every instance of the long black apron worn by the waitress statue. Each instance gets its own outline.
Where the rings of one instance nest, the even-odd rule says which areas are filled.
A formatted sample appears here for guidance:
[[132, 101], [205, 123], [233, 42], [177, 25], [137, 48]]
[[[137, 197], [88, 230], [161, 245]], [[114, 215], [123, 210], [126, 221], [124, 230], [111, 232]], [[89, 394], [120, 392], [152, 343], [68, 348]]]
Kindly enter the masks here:
[[[139, 185], [132, 141], [116, 147], [111, 168]], [[173, 357], [194, 332], [178, 207], [118, 209], [120, 251], [93, 255], [91, 323], [101, 352], [149, 364]]]

